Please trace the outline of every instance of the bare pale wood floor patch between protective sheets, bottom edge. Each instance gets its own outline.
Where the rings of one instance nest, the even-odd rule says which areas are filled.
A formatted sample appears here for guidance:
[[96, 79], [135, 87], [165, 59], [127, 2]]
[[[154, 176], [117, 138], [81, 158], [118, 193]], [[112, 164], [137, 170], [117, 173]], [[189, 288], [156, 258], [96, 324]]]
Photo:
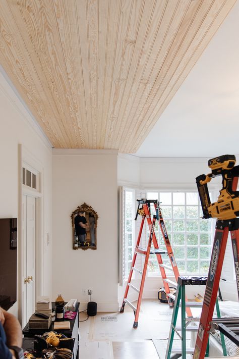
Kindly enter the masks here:
[[113, 359], [158, 359], [152, 340], [112, 342]]

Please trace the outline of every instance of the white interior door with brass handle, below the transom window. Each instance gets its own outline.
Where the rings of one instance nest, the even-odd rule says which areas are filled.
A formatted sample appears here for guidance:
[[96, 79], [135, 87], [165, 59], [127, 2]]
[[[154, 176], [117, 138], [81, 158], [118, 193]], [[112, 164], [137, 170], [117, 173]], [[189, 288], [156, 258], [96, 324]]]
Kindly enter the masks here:
[[22, 238], [23, 238], [23, 290], [22, 324], [25, 326], [35, 311], [35, 242], [36, 209], [35, 198], [23, 195]]

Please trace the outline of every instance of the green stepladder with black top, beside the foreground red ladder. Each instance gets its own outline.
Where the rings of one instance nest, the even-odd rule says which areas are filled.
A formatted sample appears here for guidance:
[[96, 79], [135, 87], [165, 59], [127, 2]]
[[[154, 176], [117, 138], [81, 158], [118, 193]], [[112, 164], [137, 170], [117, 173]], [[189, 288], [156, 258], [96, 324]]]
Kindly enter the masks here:
[[[182, 359], [186, 359], [187, 354], [194, 354], [194, 348], [186, 348], [186, 332], [198, 332], [197, 325], [190, 325], [192, 322], [199, 322], [200, 318], [194, 317], [187, 317], [186, 318], [186, 307], [202, 307], [203, 302], [189, 302], [185, 300], [185, 286], [186, 285], [206, 285], [207, 277], [192, 277], [192, 276], [180, 276], [177, 280], [177, 291], [173, 306], [173, 313], [172, 313], [172, 320], [170, 325], [168, 343], [167, 343], [167, 350], [165, 359], [176, 359], [182, 356]], [[177, 315], [179, 307], [181, 306], [181, 326], [176, 326]], [[220, 310], [218, 300], [216, 300], [216, 312], [217, 318], [220, 317]], [[180, 334], [181, 332], [181, 334]], [[181, 347], [172, 348], [174, 333], [178, 335], [181, 339]], [[223, 349], [223, 355], [227, 356], [226, 347], [225, 347], [225, 340], [222, 333], [221, 336], [221, 344]], [[209, 351], [209, 339], [207, 344], [206, 355], [208, 356]], [[171, 354], [173, 354], [171, 356]]]

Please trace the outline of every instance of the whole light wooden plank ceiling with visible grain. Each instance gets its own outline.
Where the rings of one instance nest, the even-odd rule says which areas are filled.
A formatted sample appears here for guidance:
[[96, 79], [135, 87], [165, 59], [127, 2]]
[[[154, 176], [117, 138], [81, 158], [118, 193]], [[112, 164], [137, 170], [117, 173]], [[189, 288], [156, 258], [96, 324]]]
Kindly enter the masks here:
[[53, 147], [134, 153], [235, 1], [1, 0], [0, 63]]

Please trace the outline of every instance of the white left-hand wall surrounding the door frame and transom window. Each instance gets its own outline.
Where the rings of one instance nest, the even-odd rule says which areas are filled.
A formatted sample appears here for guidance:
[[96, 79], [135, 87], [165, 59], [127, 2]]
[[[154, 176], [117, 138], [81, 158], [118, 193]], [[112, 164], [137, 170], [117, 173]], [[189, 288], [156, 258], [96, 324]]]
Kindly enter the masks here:
[[[41, 240], [44, 246], [44, 274], [42, 289], [44, 294], [50, 294], [51, 246], [46, 245], [46, 233], [51, 233], [51, 146], [2, 73], [0, 73], [0, 108], [0, 217], [17, 217], [19, 219], [20, 216], [19, 144], [22, 144], [43, 168], [44, 212]], [[21, 233], [19, 232], [18, 239], [19, 260], [21, 253]], [[20, 281], [20, 278], [18, 280]], [[10, 310], [15, 315], [18, 313], [18, 303], [19, 300]]]

